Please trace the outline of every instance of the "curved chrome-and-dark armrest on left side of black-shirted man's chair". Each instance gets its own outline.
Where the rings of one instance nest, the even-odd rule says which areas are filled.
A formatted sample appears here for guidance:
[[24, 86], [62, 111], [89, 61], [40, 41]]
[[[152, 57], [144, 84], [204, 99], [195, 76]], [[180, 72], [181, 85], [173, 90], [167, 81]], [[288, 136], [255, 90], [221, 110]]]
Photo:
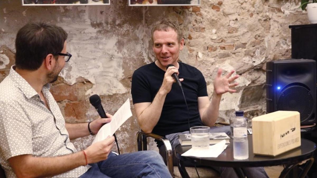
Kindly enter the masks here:
[[162, 136], [153, 134], [153, 133], [145, 133], [143, 131], [137, 132], [136, 141], [137, 141], [137, 151], [147, 150], [147, 141], [146, 138], [151, 137], [163, 142], [166, 150], [166, 165], [171, 175], [174, 175], [174, 167], [173, 167], [173, 157], [172, 157], [172, 146], [170, 141]]

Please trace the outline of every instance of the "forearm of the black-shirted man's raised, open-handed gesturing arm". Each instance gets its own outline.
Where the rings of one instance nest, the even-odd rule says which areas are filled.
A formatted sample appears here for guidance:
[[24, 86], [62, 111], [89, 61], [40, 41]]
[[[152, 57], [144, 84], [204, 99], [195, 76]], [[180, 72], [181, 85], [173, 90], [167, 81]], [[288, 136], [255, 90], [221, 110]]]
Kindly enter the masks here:
[[221, 95], [217, 95], [215, 92], [212, 95], [210, 105], [204, 112], [202, 121], [204, 125], [213, 127], [217, 121], [219, 115], [219, 105], [220, 105]]

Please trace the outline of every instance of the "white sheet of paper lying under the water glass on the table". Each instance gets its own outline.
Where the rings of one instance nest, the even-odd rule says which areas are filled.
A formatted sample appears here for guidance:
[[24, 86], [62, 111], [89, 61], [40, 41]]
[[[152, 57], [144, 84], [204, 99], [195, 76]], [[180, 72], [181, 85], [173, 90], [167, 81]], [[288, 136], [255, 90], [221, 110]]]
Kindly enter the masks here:
[[228, 145], [226, 145], [226, 140], [222, 140], [217, 144], [214, 144], [212, 146], [209, 146], [208, 149], [189, 149], [185, 153], [182, 154], [182, 156], [195, 156], [195, 157], [205, 157], [205, 158], [216, 158], [218, 157], [224, 149], [227, 148]]

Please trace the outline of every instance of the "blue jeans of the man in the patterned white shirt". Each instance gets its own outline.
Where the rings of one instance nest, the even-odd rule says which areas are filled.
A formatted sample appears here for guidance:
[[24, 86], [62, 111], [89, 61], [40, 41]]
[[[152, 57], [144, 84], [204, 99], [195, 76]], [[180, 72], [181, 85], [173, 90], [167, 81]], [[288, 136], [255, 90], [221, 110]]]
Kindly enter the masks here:
[[92, 167], [81, 178], [107, 177], [171, 177], [162, 156], [156, 151], [138, 151], [123, 155], [110, 153], [108, 158]]

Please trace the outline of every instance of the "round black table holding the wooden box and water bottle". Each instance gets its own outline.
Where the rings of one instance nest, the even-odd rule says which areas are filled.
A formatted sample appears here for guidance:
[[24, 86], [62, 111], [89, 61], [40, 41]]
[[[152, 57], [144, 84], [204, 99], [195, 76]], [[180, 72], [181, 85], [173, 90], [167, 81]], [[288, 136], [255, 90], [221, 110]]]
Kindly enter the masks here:
[[[300, 177], [304, 177], [309, 168], [314, 162], [314, 151], [316, 144], [309, 140], [301, 138], [301, 146], [292, 149], [288, 152], [282, 153], [281, 155], [271, 156], [258, 156], [254, 155], [252, 147], [252, 135], [248, 135], [249, 142], [249, 159], [247, 160], [235, 160], [233, 158], [233, 140], [230, 139], [230, 144], [217, 158], [201, 158], [194, 156], [181, 156], [184, 152], [191, 149], [191, 146], [176, 146], [175, 152], [178, 158], [178, 169], [182, 177], [189, 177], [184, 167], [184, 162], [196, 162], [198, 165], [204, 166], [219, 166], [219, 167], [232, 167], [235, 169], [238, 177], [245, 178], [243, 167], [263, 167], [263, 166], [276, 166], [286, 165], [281, 172], [280, 178], [286, 177], [290, 170], [297, 167], [299, 163], [307, 160], [303, 171], [301, 171]], [[294, 171], [296, 173], [296, 171]]]

